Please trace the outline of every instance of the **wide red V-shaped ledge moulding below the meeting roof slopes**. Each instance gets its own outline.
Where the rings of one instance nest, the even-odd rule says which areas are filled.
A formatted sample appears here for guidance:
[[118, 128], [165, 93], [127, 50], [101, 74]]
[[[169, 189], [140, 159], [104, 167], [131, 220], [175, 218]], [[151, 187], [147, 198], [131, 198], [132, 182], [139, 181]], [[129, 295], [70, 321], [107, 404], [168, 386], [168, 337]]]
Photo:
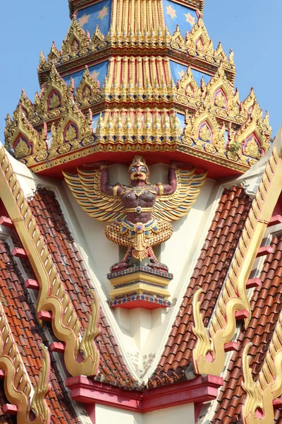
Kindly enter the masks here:
[[94, 379], [79, 375], [66, 379], [71, 389], [71, 398], [83, 404], [103, 404], [140, 413], [157, 411], [184, 404], [199, 404], [216, 399], [223, 384], [221, 377], [197, 376], [195, 379], [169, 384], [156, 389], [126, 391], [118, 387], [95, 382]]

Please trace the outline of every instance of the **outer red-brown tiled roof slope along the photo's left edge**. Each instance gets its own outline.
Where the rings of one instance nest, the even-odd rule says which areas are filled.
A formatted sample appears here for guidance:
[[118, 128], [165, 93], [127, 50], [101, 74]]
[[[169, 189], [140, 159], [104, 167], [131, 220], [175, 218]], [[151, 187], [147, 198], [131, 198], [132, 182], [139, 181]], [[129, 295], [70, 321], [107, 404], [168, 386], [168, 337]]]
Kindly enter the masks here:
[[[18, 345], [23, 363], [30, 376], [32, 385], [37, 384], [39, 370], [42, 367], [39, 345], [48, 346], [43, 331], [35, 317], [35, 307], [30, 300], [23, 278], [9, 251], [8, 245], [0, 240], [0, 295], [4, 312], [8, 319], [13, 337]], [[71, 405], [71, 399], [64, 387], [59, 387], [62, 381], [56, 361], [51, 355], [50, 383], [51, 391], [47, 396], [47, 403], [51, 408], [51, 423], [56, 423], [56, 418], [63, 418], [63, 423], [79, 423]], [[3, 382], [0, 382], [0, 422], [16, 423], [16, 417], [4, 418], [1, 406], [8, 403], [4, 395]], [[68, 410], [68, 418], [66, 416]]]

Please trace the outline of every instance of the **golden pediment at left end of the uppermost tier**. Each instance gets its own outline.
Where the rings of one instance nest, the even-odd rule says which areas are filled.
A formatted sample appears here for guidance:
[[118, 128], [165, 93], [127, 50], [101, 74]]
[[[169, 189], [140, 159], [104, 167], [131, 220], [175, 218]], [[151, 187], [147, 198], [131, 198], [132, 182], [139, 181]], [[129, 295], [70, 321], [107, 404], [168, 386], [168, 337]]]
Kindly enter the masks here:
[[71, 26], [68, 30], [65, 40], [61, 47], [61, 55], [78, 52], [89, 46], [90, 35], [82, 30], [76, 18], [73, 18]]

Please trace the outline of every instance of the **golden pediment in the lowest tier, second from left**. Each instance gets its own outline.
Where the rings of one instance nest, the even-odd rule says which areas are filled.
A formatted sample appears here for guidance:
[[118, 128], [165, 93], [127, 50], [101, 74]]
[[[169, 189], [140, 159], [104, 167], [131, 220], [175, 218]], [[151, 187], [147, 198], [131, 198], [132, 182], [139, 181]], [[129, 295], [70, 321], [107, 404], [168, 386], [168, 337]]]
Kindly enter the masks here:
[[92, 134], [92, 114], [89, 119], [71, 101], [68, 101], [66, 112], [63, 113], [59, 124], [51, 126], [52, 143], [51, 148], [57, 148], [65, 143], [72, 144], [72, 147], [79, 147], [79, 141]]

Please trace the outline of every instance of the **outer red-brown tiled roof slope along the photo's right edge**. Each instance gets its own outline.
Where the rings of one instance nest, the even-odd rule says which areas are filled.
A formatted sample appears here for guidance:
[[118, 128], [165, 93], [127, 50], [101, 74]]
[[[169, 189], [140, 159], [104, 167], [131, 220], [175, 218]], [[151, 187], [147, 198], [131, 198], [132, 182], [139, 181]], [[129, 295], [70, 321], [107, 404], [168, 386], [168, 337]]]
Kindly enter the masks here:
[[[219, 394], [219, 405], [212, 420], [213, 424], [239, 422], [245, 396], [241, 387], [243, 349], [247, 343], [252, 342], [253, 346], [249, 351], [249, 355], [252, 357], [250, 366], [256, 380], [269, 348], [279, 314], [282, 312], [282, 280], [280, 278], [282, 273], [282, 237], [273, 237], [271, 247], [273, 253], [267, 255], [260, 276], [262, 285], [255, 288], [250, 302], [252, 311], [250, 324], [246, 331], [240, 332], [238, 336], [240, 348], [238, 352], [233, 353], [228, 365], [228, 373]], [[275, 423], [281, 423], [279, 421], [281, 411], [277, 410], [275, 414]]]

